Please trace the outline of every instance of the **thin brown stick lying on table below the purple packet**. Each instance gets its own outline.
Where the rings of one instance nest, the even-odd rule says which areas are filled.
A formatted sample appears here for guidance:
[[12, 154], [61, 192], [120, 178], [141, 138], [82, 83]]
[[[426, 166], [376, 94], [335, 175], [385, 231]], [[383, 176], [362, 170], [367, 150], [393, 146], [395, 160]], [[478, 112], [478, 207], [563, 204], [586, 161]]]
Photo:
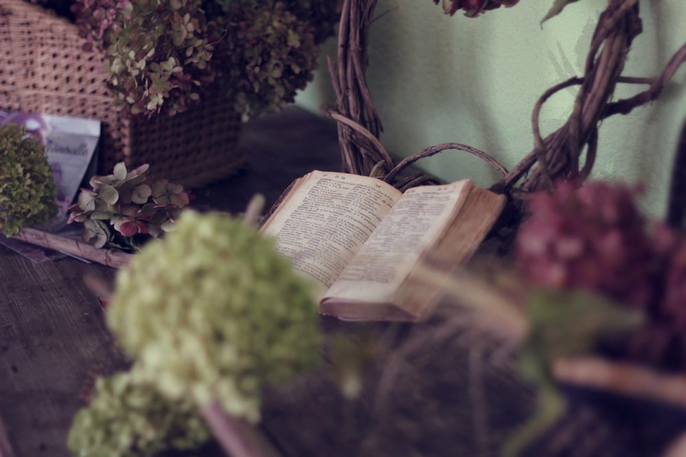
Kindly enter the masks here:
[[107, 267], [121, 268], [128, 264], [133, 254], [128, 254], [118, 249], [97, 249], [81, 240], [64, 238], [47, 232], [32, 228], [23, 228], [13, 238], [31, 243], [55, 251], [64, 252], [71, 256], [77, 256], [86, 260], [91, 260]]

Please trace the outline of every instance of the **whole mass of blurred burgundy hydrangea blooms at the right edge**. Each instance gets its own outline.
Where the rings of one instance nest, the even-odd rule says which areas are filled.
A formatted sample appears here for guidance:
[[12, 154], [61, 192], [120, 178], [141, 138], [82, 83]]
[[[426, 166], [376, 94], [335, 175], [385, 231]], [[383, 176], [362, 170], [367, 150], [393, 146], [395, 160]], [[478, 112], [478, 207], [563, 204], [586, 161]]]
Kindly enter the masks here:
[[559, 182], [532, 195], [517, 234], [517, 269], [531, 284], [582, 289], [643, 310], [628, 354], [686, 368], [686, 237], [650, 221], [626, 184]]

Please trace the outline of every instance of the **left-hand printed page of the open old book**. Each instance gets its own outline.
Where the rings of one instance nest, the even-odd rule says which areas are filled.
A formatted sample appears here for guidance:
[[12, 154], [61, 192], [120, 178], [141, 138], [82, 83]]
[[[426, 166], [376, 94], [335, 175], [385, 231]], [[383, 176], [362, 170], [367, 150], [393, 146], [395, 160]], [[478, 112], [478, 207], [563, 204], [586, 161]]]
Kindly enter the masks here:
[[372, 177], [314, 171], [265, 223], [276, 249], [323, 295], [394, 203], [399, 190]]

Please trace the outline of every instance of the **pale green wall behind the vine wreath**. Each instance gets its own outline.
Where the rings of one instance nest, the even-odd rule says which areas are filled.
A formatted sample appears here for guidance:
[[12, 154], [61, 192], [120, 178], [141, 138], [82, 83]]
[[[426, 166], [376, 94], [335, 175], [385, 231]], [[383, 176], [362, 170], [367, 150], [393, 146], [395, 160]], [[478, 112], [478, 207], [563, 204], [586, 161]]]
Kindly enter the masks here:
[[[510, 169], [532, 149], [530, 117], [550, 86], [582, 73], [602, 0], [572, 3], [539, 22], [552, 0], [522, 0], [514, 8], [470, 19], [445, 16], [431, 0], [380, 0], [377, 12], [399, 5], [372, 25], [368, 83], [385, 127], [382, 143], [408, 156], [438, 143], [466, 143]], [[685, 0], [643, 0], [643, 33], [632, 46], [624, 75], [656, 75], [686, 42]], [[329, 51], [335, 49], [335, 43]], [[646, 209], [663, 213], [676, 136], [686, 118], [686, 65], [650, 106], [604, 121], [596, 177], [643, 182]], [[324, 67], [322, 66], [322, 69]], [[620, 86], [627, 97], [645, 86]], [[298, 97], [318, 110], [330, 103], [328, 72]], [[553, 97], [542, 132], [562, 125], [575, 89]], [[488, 186], [497, 175], [466, 153], [449, 151], [419, 162], [443, 180], [471, 177]], [[686, 178], [685, 178], [686, 179]]]

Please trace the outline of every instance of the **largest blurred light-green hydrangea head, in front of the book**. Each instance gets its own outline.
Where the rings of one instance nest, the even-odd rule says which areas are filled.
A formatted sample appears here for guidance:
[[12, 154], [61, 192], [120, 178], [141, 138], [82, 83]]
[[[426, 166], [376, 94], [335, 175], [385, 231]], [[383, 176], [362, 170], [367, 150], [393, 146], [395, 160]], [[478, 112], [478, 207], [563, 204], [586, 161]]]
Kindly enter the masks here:
[[311, 284], [242, 221], [184, 212], [117, 276], [108, 324], [171, 398], [259, 420], [265, 384], [319, 360]]

